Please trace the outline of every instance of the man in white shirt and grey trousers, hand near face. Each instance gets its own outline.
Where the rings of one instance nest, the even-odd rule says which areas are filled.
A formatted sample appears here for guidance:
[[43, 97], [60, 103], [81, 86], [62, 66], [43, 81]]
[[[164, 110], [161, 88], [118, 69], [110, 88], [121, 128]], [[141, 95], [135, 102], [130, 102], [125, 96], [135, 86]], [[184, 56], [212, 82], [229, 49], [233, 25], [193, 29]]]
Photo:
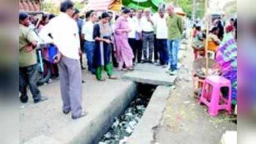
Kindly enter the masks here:
[[[142, 37], [143, 37], [143, 62], [152, 62], [154, 52], [154, 22], [151, 17], [151, 10], [145, 9], [145, 16], [142, 17]], [[149, 56], [147, 49], [149, 48]]]

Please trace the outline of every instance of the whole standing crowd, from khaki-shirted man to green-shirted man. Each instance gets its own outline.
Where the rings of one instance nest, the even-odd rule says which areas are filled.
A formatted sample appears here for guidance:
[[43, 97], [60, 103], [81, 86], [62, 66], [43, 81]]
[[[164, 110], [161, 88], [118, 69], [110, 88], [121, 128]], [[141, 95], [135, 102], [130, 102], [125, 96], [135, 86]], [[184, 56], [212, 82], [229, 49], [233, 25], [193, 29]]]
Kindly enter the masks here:
[[[172, 5], [167, 7], [167, 15], [165, 8], [160, 8], [154, 16], [149, 9], [137, 10], [136, 15], [134, 15], [134, 10], [124, 10], [116, 24], [113, 24], [111, 12], [102, 13], [100, 19], [96, 12], [90, 12], [83, 25], [79, 19], [74, 20], [75, 14], [77, 12], [71, 1], [62, 2], [60, 14], [51, 19], [39, 33], [45, 42], [56, 45], [59, 51], [55, 62], [58, 63], [59, 68], [62, 111], [65, 114], [71, 112], [73, 119], [87, 115], [87, 111], [82, 109], [81, 48], [86, 51], [88, 70], [95, 74], [99, 81], [105, 81], [102, 77], [102, 70], [107, 72], [109, 79], [116, 79], [113, 76], [111, 56], [113, 58], [118, 55], [116, 54], [118, 51], [121, 52], [118, 61], [121, 69], [129, 67], [129, 70], [133, 70], [134, 62], [158, 62], [159, 56], [159, 65], [166, 68], [170, 64], [169, 73], [171, 75], [177, 73], [183, 22], [174, 13]], [[26, 84], [29, 84], [34, 101], [39, 102], [45, 99], [41, 97], [35, 79], [37, 63], [35, 48], [38, 43], [33, 39], [32, 31], [28, 28], [28, 15], [20, 13], [19, 23], [21, 29], [19, 45], [21, 100], [27, 101]], [[118, 24], [120, 24], [119, 29]], [[119, 32], [122, 35], [119, 35]], [[114, 44], [118, 42], [113, 36], [123, 37], [126, 42], [120, 40], [118, 42], [124, 43], [114, 48]], [[122, 44], [124, 44], [123, 47]], [[131, 52], [129, 52], [130, 49]], [[122, 51], [129, 54], [128, 59], [123, 56]], [[155, 61], [152, 60], [153, 54]]]

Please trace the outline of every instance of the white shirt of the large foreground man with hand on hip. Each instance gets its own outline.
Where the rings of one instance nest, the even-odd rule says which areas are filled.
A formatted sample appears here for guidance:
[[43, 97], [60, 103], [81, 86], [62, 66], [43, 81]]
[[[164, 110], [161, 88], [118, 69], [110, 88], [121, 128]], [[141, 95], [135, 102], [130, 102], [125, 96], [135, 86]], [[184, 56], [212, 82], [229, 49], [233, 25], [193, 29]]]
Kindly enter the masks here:
[[[53, 38], [51, 38], [49, 36]], [[41, 38], [47, 42], [55, 44], [60, 53], [68, 58], [79, 60], [80, 39], [77, 22], [66, 13], [50, 20], [39, 33]]]

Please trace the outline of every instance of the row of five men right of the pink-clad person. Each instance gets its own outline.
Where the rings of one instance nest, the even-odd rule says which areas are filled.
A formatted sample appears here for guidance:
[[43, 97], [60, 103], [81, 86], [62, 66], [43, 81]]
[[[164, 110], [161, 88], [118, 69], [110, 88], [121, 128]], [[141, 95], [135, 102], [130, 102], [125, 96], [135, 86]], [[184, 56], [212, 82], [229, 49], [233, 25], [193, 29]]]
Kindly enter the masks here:
[[166, 10], [161, 7], [155, 15], [149, 9], [137, 10], [136, 15], [131, 10], [128, 21], [131, 27], [129, 44], [134, 52], [134, 62], [158, 63], [163, 68], [170, 64], [169, 72], [175, 75], [184, 28], [182, 19], [174, 13], [174, 7], [169, 5]]

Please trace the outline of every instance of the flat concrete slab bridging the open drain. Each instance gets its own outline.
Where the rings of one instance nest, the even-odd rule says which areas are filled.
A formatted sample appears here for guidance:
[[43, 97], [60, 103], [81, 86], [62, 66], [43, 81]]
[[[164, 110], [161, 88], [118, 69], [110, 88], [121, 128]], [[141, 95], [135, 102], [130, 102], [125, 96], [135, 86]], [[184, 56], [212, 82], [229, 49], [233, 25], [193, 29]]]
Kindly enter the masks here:
[[167, 70], [149, 63], [138, 64], [133, 72], [127, 72], [123, 77], [137, 83], [170, 86], [174, 83], [176, 76], [166, 74]]

